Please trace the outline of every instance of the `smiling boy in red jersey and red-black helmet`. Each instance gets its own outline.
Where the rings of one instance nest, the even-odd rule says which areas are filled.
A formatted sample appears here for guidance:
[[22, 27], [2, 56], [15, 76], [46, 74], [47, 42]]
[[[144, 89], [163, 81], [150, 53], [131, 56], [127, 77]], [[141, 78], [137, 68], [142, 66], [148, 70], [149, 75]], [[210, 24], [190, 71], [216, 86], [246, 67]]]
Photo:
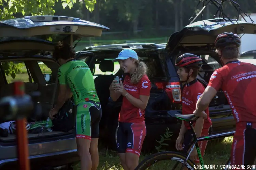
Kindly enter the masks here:
[[[185, 53], [177, 58], [176, 66], [179, 67], [177, 74], [180, 76], [181, 82], [186, 82], [182, 90], [182, 114], [193, 113], [196, 109], [197, 100], [205, 89], [204, 86], [196, 79], [202, 65], [202, 59], [194, 54]], [[205, 112], [207, 117], [205, 119], [200, 117], [193, 124], [197, 137], [208, 136], [209, 128], [212, 125], [211, 119], [208, 117], [208, 107], [202, 110], [202, 112]], [[188, 154], [188, 150], [192, 144], [192, 132], [193, 130], [190, 128], [189, 122], [182, 121], [180, 133], [176, 140], [176, 149], [182, 150], [186, 155]], [[201, 141], [198, 145], [200, 146], [203, 156], [207, 141]], [[196, 149], [191, 153], [190, 159], [199, 164]]]

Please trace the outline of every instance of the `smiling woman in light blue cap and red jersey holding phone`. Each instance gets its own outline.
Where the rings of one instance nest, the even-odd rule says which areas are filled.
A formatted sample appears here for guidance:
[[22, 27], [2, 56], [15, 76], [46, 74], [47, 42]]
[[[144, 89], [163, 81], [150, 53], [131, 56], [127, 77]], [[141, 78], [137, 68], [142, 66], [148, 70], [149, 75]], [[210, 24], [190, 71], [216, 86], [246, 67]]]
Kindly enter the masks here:
[[117, 152], [123, 169], [134, 170], [139, 164], [146, 136], [144, 109], [150, 96], [151, 82], [146, 75], [146, 64], [138, 60], [134, 50], [122, 50], [115, 61], [119, 62], [120, 68], [127, 74], [123, 82], [120, 79], [120, 84], [117, 84], [113, 80], [109, 88], [113, 101], [123, 96], [117, 130]]

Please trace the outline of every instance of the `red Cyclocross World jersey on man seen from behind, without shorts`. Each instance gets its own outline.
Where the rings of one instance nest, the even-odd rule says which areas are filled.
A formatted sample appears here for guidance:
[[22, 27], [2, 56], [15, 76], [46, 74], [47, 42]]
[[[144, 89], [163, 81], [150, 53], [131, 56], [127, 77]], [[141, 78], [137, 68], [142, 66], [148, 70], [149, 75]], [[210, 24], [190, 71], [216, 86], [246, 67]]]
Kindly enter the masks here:
[[222, 89], [236, 122], [256, 122], [256, 66], [228, 62], [212, 74], [208, 86]]

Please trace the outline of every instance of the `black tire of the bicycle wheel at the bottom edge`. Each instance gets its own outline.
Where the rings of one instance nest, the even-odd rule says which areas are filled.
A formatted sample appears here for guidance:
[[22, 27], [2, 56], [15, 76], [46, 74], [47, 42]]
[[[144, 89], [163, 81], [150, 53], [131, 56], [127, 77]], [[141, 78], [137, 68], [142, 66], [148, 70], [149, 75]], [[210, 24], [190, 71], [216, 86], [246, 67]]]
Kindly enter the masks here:
[[[175, 158], [175, 159], [174, 159]], [[153, 155], [150, 155], [146, 159], [142, 160], [139, 165], [134, 170], [146, 170], [154, 163], [157, 163], [161, 160], [174, 160], [180, 163], [184, 163], [184, 160], [186, 159], [186, 156], [178, 153], [178, 152], [172, 152], [172, 151], [163, 151], [158, 152]], [[194, 169], [194, 163], [190, 159], [187, 160], [187, 163], [185, 164], [185, 167], [193, 170]]]

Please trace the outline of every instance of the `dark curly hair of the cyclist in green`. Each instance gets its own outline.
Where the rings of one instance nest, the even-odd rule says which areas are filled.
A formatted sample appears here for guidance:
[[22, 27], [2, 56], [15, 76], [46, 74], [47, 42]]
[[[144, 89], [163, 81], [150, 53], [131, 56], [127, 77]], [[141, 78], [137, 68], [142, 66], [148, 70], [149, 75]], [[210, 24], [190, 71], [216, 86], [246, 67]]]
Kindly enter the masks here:
[[63, 41], [59, 41], [56, 44], [55, 49], [53, 51], [53, 58], [55, 58], [56, 60], [58, 59], [67, 60], [70, 58], [75, 58], [75, 51], [73, 47], [71, 47], [69, 44]]

